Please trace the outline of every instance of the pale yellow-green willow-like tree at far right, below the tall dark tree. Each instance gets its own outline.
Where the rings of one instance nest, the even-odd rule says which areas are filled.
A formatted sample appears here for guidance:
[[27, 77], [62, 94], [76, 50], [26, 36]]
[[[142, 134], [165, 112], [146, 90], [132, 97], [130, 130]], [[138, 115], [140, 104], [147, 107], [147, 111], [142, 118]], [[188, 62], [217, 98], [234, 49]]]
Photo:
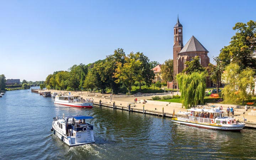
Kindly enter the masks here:
[[223, 80], [226, 85], [222, 90], [224, 100], [226, 102], [235, 102], [250, 100], [251, 94], [247, 92], [248, 89], [252, 91], [254, 86], [255, 72], [251, 68], [242, 69], [235, 63], [230, 63], [226, 66], [223, 73]]

